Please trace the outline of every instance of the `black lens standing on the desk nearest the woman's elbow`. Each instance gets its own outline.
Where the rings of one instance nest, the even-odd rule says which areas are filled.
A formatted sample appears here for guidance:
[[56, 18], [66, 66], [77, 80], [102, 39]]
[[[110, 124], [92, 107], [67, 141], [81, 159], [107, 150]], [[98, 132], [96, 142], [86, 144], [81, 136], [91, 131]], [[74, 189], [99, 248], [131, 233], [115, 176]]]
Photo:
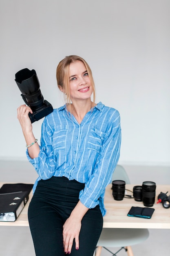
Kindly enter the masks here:
[[115, 200], [123, 200], [125, 194], [125, 184], [124, 180], [113, 180], [112, 182], [112, 194]]

